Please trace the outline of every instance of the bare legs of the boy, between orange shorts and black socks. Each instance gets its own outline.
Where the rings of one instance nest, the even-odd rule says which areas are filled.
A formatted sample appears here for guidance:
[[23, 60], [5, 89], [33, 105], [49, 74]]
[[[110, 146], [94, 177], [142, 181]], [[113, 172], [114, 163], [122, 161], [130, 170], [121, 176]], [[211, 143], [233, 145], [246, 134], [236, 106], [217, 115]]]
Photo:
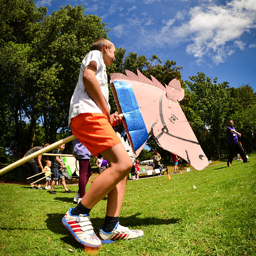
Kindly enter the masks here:
[[[124, 198], [126, 176], [132, 168], [132, 161], [122, 143], [101, 152], [101, 154], [106, 158], [110, 167], [94, 180], [82, 198], [81, 203], [86, 208], [91, 209], [109, 194], [108, 214], [111, 212], [118, 216]], [[111, 214], [110, 216], [113, 215]]]

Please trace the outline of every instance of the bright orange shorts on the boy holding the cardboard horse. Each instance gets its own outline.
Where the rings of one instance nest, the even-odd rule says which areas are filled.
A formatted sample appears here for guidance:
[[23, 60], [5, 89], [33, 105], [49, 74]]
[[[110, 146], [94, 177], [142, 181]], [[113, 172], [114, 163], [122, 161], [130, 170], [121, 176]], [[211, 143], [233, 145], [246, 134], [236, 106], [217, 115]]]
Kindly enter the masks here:
[[79, 114], [71, 119], [70, 126], [72, 133], [96, 157], [100, 152], [121, 143], [105, 114]]

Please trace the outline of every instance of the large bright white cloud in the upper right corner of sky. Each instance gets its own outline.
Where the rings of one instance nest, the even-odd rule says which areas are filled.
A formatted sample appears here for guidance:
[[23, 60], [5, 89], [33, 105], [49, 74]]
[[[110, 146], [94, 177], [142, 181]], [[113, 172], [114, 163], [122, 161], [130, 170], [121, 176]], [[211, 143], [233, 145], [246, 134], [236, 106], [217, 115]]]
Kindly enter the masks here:
[[[176, 17], [181, 15], [177, 13]], [[235, 48], [244, 49], [240, 38], [256, 28], [256, 1], [232, 0], [225, 6], [208, 3], [190, 8], [188, 17], [180, 26], [170, 26], [174, 19], [164, 22], [165, 26], [151, 33], [152, 42], [162, 47], [186, 43], [186, 52], [194, 55], [198, 64], [205, 57], [219, 64], [234, 53]]]

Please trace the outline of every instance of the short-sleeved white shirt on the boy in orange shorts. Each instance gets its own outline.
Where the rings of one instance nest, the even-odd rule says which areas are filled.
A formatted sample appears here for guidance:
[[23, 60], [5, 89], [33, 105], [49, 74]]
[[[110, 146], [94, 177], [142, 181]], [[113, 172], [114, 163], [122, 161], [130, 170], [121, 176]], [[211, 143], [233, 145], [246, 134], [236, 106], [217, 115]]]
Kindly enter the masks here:
[[83, 83], [84, 68], [88, 66], [91, 61], [95, 61], [97, 64], [95, 76], [100, 84], [100, 89], [108, 109], [110, 110], [110, 105], [108, 103], [108, 77], [106, 73], [106, 65], [104, 64], [102, 53], [98, 50], [93, 50], [90, 51], [82, 61], [78, 83], [76, 84], [76, 88], [70, 101], [68, 124], [70, 124], [71, 118], [78, 116], [81, 113], [102, 114], [100, 108], [92, 100], [92, 98], [90, 98]]

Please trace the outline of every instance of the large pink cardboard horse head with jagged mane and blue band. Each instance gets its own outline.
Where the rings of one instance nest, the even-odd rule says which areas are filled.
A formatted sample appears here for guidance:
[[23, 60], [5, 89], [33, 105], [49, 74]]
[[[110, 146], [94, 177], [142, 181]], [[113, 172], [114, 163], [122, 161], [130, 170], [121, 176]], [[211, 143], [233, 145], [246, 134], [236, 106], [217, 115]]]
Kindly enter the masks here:
[[164, 87], [156, 78], [138, 76], [126, 70], [126, 75], [110, 74], [111, 90], [134, 156], [137, 157], [146, 141], [153, 136], [157, 144], [186, 160], [197, 170], [208, 165], [202, 148], [190, 127], [179, 101], [184, 89], [178, 79]]

